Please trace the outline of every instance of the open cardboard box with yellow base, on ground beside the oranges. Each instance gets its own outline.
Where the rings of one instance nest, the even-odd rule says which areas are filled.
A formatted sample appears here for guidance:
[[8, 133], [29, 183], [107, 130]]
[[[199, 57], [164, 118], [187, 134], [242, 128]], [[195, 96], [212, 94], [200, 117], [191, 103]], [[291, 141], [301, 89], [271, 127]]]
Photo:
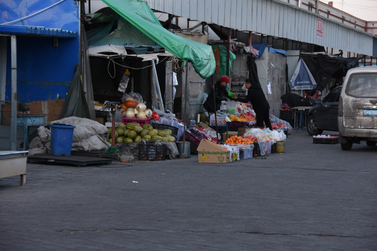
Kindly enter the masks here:
[[202, 139], [198, 146], [198, 163], [228, 163], [230, 151], [208, 139]]

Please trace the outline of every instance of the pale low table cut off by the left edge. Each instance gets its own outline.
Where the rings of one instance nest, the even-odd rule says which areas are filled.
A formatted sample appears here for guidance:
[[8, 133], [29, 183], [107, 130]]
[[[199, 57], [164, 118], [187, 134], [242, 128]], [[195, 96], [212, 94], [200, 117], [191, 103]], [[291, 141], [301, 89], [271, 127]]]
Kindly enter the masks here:
[[0, 151], [0, 178], [20, 175], [20, 185], [26, 182], [29, 151]]

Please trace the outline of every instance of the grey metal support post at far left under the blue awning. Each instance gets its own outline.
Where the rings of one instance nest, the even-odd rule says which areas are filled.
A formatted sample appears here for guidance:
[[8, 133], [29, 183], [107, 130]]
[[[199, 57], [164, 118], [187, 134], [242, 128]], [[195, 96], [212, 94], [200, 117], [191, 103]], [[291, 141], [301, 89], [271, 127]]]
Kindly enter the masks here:
[[10, 36], [10, 65], [12, 67], [12, 102], [10, 111], [10, 150], [16, 150], [17, 142], [17, 40], [16, 36]]

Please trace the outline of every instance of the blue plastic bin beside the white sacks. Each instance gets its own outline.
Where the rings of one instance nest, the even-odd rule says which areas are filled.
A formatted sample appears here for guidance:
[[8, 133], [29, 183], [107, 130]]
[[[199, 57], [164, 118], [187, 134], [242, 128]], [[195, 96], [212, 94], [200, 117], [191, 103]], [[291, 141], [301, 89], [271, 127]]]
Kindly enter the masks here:
[[71, 156], [73, 129], [64, 123], [54, 123], [51, 125], [51, 154], [56, 156]]

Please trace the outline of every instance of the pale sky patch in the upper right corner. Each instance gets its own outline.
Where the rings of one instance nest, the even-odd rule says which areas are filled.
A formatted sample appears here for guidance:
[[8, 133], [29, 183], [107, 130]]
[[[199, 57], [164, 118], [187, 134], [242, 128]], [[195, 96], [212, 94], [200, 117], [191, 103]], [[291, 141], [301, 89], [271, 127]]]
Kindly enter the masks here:
[[[326, 3], [326, 0], [321, 0]], [[330, 1], [330, 0], [329, 0]], [[364, 21], [377, 21], [377, 0], [332, 0], [333, 6]], [[328, 2], [328, 1], [327, 1]], [[343, 2], [343, 4], [342, 4]], [[342, 8], [343, 6], [343, 8]]]

